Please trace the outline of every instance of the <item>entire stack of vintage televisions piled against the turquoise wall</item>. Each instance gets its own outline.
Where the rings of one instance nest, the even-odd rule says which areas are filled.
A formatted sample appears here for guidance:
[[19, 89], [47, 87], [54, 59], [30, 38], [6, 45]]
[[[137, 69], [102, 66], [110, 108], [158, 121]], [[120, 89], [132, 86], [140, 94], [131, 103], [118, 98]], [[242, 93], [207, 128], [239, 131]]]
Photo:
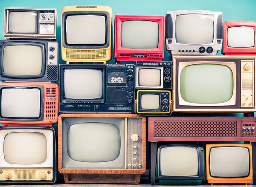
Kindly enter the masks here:
[[[111, 8], [66, 6], [67, 64], [58, 65], [56, 16], [5, 9], [1, 184], [52, 184], [57, 171], [66, 183], [137, 184], [146, 144], [152, 185], [256, 184], [255, 22], [222, 23], [211, 11], [115, 15], [116, 63], [107, 64]], [[172, 61], [162, 61], [165, 37]], [[216, 55], [222, 43], [224, 55]], [[199, 114], [224, 112], [244, 117]]]

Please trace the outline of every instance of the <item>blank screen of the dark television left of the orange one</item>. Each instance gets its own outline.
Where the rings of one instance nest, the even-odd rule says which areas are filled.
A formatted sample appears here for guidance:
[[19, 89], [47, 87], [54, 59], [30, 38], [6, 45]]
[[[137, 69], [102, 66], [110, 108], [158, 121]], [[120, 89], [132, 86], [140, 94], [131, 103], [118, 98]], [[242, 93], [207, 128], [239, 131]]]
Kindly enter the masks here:
[[160, 170], [165, 176], [198, 174], [198, 151], [195, 147], [172, 146], [160, 150]]

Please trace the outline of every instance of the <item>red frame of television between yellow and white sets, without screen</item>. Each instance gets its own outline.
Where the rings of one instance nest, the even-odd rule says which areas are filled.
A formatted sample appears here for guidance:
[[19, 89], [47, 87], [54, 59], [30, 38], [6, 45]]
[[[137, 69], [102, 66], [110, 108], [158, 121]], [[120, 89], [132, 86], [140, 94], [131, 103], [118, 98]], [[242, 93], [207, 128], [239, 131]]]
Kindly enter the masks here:
[[[121, 46], [121, 25], [127, 20], [147, 20], [158, 23], [159, 38], [158, 47], [154, 49], [129, 49]], [[130, 56], [120, 56], [126, 54]], [[145, 57], [131, 57], [131, 54], [145, 54]], [[148, 57], [148, 55], [159, 55], [158, 57]], [[115, 50], [114, 58], [118, 61], [161, 61], [164, 58], [164, 16], [134, 16], [115, 15]]]

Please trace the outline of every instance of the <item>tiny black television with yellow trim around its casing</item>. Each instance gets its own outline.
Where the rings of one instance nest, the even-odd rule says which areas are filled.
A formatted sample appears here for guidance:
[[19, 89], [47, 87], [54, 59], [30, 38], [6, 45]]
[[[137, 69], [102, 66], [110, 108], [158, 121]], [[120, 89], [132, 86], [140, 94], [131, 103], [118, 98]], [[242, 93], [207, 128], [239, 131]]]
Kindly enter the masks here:
[[171, 103], [169, 90], [138, 90], [136, 113], [138, 115], [171, 115]]

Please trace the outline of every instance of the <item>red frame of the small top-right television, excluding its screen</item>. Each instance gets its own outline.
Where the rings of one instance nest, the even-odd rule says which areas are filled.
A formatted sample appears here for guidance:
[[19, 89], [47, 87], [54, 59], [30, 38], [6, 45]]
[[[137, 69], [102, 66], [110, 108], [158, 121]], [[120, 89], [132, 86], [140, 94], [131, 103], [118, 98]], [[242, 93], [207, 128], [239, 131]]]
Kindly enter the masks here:
[[[227, 29], [230, 27], [248, 26], [254, 29], [253, 47], [229, 47], [227, 45]], [[255, 21], [225, 21], [223, 23], [223, 52], [224, 55], [256, 55], [256, 23]]]

